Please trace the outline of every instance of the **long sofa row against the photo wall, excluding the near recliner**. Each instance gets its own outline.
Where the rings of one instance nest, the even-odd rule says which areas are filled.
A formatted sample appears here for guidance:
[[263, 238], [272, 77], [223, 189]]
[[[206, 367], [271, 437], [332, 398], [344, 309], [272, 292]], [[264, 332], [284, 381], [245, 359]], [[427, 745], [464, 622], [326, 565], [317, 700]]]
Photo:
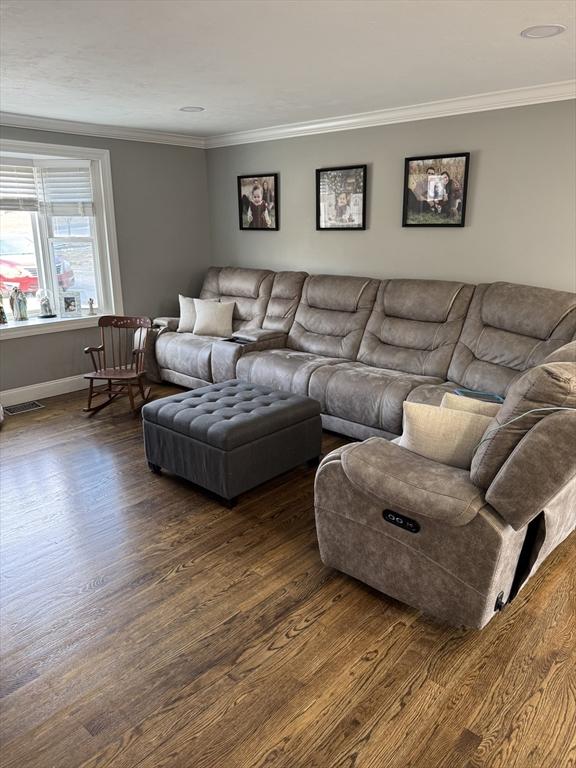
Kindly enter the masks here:
[[375, 280], [211, 268], [200, 298], [234, 301], [240, 345], [178, 333], [157, 318], [148, 370], [195, 388], [239, 378], [309, 395], [324, 427], [392, 438], [402, 403], [455, 387], [505, 396], [525, 370], [576, 335], [576, 295], [512, 283]]

